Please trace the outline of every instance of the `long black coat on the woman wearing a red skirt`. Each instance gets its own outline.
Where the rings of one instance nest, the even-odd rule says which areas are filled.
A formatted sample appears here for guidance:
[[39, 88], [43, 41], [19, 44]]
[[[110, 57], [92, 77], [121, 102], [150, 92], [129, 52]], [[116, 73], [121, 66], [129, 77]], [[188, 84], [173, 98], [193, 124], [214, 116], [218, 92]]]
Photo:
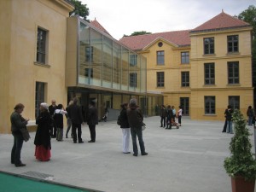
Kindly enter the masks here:
[[50, 125], [51, 125], [51, 116], [48, 111], [41, 112], [36, 119], [36, 124], [38, 129], [36, 132], [34, 144], [36, 146], [44, 145], [44, 148], [51, 148], [50, 146]]

